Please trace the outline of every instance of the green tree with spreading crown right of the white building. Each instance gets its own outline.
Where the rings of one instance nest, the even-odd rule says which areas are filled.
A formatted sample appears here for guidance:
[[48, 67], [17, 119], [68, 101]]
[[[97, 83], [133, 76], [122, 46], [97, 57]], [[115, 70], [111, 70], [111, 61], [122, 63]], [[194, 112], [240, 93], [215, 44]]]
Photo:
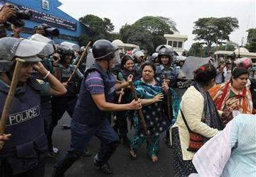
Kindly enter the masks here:
[[194, 22], [193, 34], [195, 40], [203, 41], [207, 46], [210, 55], [211, 46], [220, 45], [224, 41], [229, 41], [229, 35], [239, 27], [238, 19], [231, 17], [223, 18], [199, 18]]

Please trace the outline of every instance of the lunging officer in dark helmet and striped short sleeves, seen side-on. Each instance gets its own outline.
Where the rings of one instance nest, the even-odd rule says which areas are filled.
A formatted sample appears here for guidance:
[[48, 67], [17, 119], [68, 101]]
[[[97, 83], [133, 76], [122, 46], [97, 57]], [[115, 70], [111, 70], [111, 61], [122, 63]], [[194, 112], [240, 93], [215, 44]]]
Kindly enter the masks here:
[[140, 101], [114, 104], [114, 91], [128, 83], [116, 85], [110, 68], [114, 65], [117, 48], [108, 40], [97, 40], [92, 46], [95, 64], [87, 69], [75, 113], [71, 120], [71, 144], [68, 154], [54, 167], [53, 176], [63, 176], [66, 170], [82, 155], [90, 139], [100, 139], [100, 152], [94, 158], [94, 165], [103, 173], [113, 173], [107, 161], [119, 145], [119, 137], [107, 120], [110, 111], [142, 108]]

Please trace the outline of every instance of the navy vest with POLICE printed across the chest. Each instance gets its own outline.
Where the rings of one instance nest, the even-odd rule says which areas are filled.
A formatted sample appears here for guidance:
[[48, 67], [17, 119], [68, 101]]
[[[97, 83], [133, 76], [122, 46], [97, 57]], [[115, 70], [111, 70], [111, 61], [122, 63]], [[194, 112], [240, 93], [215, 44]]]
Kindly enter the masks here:
[[[47, 140], [43, 129], [40, 112], [40, 87], [35, 79], [28, 79], [26, 84], [17, 89], [6, 120], [5, 134], [11, 138], [5, 142], [0, 152], [6, 157], [15, 173], [22, 173], [38, 164], [38, 157], [47, 151]], [[9, 87], [0, 81], [0, 106], [4, 108]]]

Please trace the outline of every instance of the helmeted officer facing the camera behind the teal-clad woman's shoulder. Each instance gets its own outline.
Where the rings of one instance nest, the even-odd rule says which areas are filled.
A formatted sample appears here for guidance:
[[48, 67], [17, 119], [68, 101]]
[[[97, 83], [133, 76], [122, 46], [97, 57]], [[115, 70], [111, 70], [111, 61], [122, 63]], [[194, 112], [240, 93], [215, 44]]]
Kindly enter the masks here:
[[[174, 88], [178, 76], [178, 69], [174, 66], [174, 51], [170, 48], [163, 47], [159, 50], [158, 58], [160, 65], [156, 67], [157, 79], [161, 82], [166, 81], [169, 83], [169, 87]], [[166, 106], [167, 104], [165, 104], [164, 110], [167, 113], [168, 108]], [[171, 147], [169, 130], [166, 131], [166, 144]]]

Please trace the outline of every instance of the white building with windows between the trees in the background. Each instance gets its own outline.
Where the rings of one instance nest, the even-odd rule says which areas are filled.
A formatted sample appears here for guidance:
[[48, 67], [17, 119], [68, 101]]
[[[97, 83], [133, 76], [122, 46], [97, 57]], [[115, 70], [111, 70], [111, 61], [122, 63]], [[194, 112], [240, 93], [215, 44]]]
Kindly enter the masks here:
[[188, 40], [188, 35], [180, 35], [180, 34], [164, 34], [164, 38], [166, 38], [166, 45], [171, 45], [174, 47], [174, 51], [181, 55], [184, 51], [184, 42]]

